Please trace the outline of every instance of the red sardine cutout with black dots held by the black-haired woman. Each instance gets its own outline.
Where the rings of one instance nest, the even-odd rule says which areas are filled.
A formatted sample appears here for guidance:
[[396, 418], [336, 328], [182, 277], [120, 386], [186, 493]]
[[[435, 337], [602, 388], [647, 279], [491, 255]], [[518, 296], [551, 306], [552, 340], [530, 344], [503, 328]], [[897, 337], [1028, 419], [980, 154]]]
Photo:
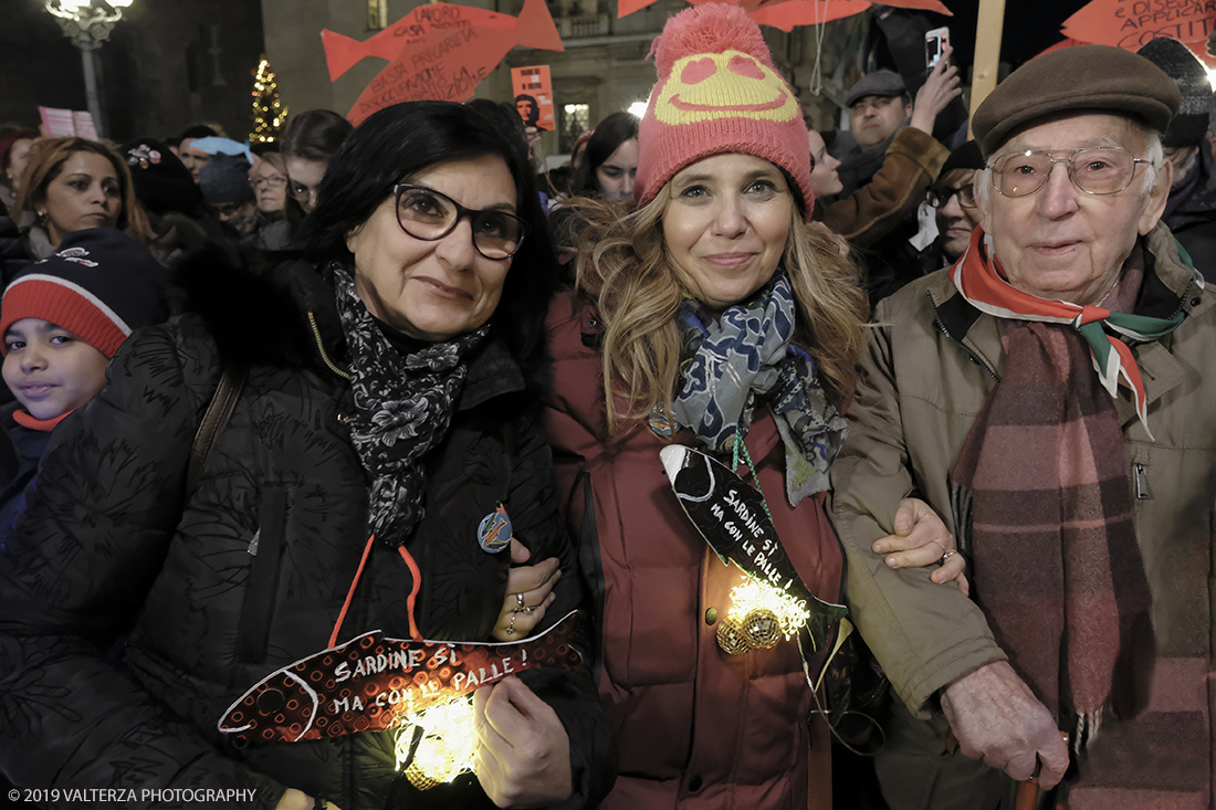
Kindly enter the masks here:
[[387, 731], [407, 713], [507, 675], [581, 665], [570, 646], [579, 621], [574, 611], [544, 634], [508, 643], [410, 641], [373, 630], [271, 673], [216, 727], [241, 746]]

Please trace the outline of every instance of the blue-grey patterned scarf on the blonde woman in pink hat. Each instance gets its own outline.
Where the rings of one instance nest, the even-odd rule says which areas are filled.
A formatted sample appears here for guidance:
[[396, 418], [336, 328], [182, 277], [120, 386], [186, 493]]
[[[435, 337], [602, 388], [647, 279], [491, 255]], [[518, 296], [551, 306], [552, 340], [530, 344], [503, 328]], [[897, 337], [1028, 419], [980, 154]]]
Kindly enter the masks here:
[[778, 271], [750, 299], [714, 320], [688, 299], [676, 314], [685, 345], [683, 384], [672, 403], [676, 421], [716, 452], [747, 435], [756, 395], [764, 395], [786, 444], [786, 496], [792, 506], [828, 488], [828, 467], [848, 433], [828, 403], [815, 361], [790, 343], [794, 294]]

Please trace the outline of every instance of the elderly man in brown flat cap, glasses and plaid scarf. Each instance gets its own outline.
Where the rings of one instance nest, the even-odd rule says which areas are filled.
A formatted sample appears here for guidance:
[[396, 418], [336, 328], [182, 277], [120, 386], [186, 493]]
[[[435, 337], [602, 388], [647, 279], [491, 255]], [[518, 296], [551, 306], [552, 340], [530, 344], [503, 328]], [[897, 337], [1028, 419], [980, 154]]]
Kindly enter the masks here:
[[[1113, 47], [1013, 73], [967, 252], [878, 308], [832, 511], [902, 698], [893, 808], [1212, 806], [1216, 294], [1160, 223], [1178, 103]], [[905, 497], [969, 594], [888, 566]]]

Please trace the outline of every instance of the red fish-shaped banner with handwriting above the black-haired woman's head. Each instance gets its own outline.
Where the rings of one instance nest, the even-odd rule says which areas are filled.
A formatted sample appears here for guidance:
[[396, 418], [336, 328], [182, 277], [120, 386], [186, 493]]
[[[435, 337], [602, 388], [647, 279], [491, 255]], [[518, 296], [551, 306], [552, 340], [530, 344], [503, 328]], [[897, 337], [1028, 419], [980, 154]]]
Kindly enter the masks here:
[[330, 79], [365, 56], [392, 62], [360, 94], [347, 118], [356, 126], [402, 101], [466, 101], [516, 45], [561, 51], [545, 0], [524, 0], [519, 17], [447, 2], [418, 6], [362, 43], [321, 32]]

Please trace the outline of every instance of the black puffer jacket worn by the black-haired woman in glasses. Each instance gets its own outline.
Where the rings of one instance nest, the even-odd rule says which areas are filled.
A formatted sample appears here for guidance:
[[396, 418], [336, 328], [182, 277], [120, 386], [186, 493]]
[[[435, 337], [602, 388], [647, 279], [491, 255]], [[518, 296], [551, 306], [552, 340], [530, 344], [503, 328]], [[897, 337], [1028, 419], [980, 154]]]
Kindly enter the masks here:
[[[128, 341], [109, 384], [55, 431], [6, 538], [0, 770], [18, 786], [134, 789], [128, 806], [164, 803], [145, 789], [253, 788], [246, 806], [272, 808], [288, 787], [343, 810], [488, 805], [472, 776], [413, 791], [394, 774], [392, 733], [236, 750], [216, 732], [249, 686], [327, 646], [368, 536], [368, 478], [344, 427], [354, 403], [328, 280], [303, 263], [254, 276], [215, 252], [185, 272], [196, 314]], [[225, 356], [249, 365], [246, 387], [187, 496]], [[497, 341], [471, 359], [406, 545], [428, 639], [491, 641], [510, 561], [482, 551], [477, 527], [497, 501], [534, 561], [556, 555], [574, 573], [535, 401]], [[558, 580], [546, 624], [579, 604], [579, 579]], [[395, 550], [375, 544], [340, 640], [409, 637], [411, 585]], [[593, 684], [558, 670], [522, 679], [570, 738], [575, 795], [563, 806], [592, 806], [615, 767]]]

